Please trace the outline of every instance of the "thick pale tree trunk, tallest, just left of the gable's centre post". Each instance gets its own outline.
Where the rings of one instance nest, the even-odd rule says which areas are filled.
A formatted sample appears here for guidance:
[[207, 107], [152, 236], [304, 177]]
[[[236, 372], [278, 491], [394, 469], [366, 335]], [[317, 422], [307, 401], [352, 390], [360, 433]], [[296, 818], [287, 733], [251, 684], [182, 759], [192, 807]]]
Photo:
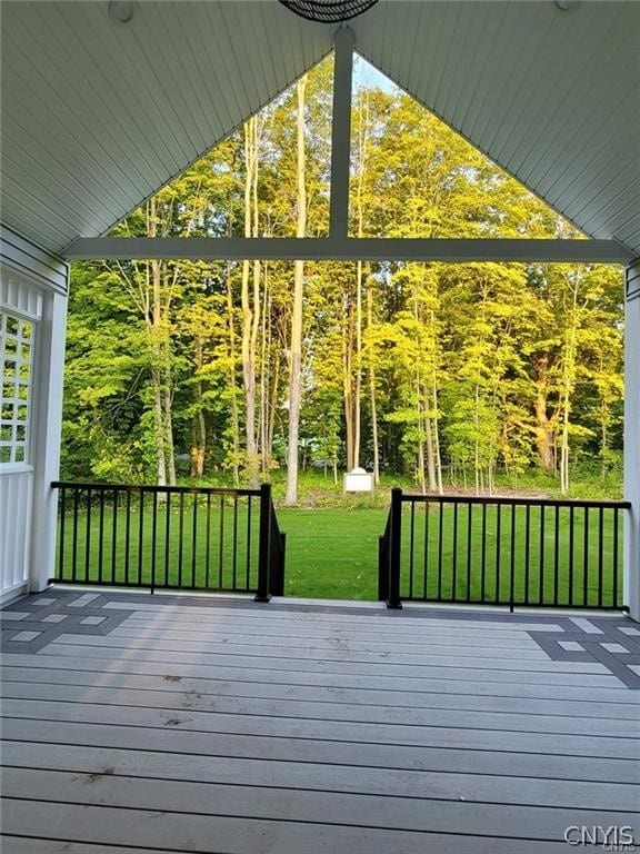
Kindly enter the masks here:
[[[296, 237], [304, 237], [307, 229], [307, 189], [304, 186], [304, 92], [307, 75], [300, 78], [298, 95], [298, 220]], [[291, 312], [291, 363], [289, 367], [289, 445], [287, 449], [287, 493], [284, 504], [298, 504], [298, 438], [300, 430], [301, 376], [302, 376], [302, 292], [304, 264], [296, 261], [293, 271], [293, 307]]]

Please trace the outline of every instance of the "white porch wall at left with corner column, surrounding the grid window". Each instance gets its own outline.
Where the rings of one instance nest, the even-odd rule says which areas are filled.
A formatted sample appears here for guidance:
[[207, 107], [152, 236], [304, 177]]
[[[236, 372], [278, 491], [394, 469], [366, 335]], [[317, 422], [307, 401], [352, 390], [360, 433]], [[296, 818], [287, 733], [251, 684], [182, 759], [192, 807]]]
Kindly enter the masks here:
[[52, 574], [66, 304], [67, 266], [2, 228], [0, 314], [30, 325], [32, 347], [27, 454], [0, 460], [0, 600], [42, 589]]

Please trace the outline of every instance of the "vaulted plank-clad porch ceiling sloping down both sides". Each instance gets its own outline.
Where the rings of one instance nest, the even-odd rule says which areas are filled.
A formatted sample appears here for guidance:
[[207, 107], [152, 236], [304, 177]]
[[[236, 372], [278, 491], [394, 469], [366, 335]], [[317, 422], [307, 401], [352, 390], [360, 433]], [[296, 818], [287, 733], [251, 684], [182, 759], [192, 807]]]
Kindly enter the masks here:
[[[640, 257], [640, 3], [380, 0], [356, 49], [587, 235]], [[2, 2], [2, 224], [104, 234], [332, 48], [276, 0]]]

